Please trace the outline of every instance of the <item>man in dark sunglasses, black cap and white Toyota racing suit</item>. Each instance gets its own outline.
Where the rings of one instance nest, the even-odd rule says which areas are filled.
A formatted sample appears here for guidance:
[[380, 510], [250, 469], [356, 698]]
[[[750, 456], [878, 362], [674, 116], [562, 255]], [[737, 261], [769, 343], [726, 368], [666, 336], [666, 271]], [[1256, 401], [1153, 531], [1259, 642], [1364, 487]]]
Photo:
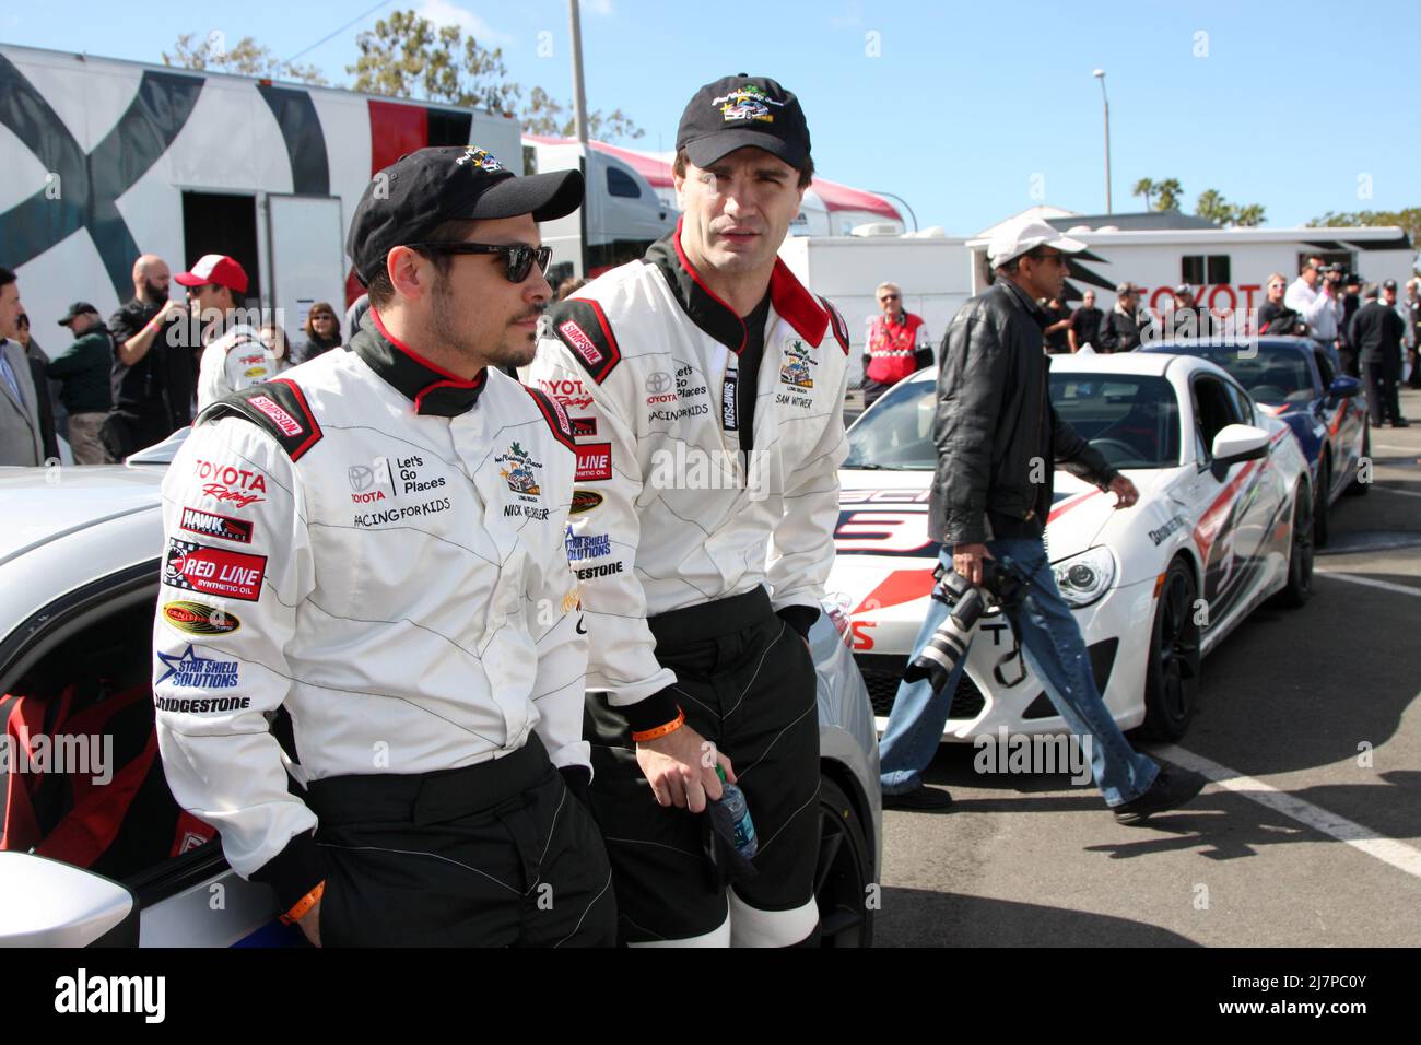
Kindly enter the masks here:
[[499, 371], [553, 293], [537, 222], [581, 198], [473, 146], [402, 156], [347, 242], [371, 321], [205, 409], [168, 471], [168, 782], [313, 941], [615, 938], [571, 429]]

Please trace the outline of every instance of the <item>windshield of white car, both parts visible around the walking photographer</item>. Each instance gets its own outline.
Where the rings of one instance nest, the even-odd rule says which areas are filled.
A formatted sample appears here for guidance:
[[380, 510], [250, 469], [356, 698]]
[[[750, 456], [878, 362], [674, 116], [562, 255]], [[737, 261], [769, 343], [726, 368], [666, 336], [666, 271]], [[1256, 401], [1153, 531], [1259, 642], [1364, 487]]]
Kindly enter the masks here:
[[[935, 392], [932, 381], [909, 381], [885, 394], [850, 429], [844, 468], [936, 468]], [[1162, 377], [1053, 374], [1052, 402], [1115, 468], [1179, 463], [1179, 407]]]

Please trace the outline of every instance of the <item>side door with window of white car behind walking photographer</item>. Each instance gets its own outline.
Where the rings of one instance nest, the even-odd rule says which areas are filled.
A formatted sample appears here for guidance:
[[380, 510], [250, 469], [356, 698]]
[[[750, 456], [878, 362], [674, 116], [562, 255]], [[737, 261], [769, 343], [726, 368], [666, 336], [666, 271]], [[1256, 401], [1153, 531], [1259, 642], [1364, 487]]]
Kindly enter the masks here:
[[[1198, 506], [1194, 537], [1204, 562], [1205, 628], [1223, 620], [1246, 597], [1250, 580], [1256, 583], [1256, 556], [1270, 506], [1263, 496], [1266, 483], [1260, 483], [1262, 461], [1214, 461], [1214, 436], [1231, 424], [1253, 424], [1252, 404], [1239, 391], [1241, 402], [1235, 391], [1236, 385], [1212, 374], [1195, 374], [1189, 382], [1198, 469], [1191, 499]], [[1242, 404], [1249, 404], [1248, 414]]]

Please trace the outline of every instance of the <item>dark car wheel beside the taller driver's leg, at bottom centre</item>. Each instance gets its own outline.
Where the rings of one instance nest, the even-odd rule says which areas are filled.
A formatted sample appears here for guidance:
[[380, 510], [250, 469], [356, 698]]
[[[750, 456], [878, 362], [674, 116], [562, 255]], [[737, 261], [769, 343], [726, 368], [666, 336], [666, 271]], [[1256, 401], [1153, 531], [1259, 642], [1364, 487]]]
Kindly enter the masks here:
[[814, 867], [820, 947], [872, 947], [874, 911], [868, 904], [872, 870], [872, 852], [858, 810], [837, 783], [821, 776]]

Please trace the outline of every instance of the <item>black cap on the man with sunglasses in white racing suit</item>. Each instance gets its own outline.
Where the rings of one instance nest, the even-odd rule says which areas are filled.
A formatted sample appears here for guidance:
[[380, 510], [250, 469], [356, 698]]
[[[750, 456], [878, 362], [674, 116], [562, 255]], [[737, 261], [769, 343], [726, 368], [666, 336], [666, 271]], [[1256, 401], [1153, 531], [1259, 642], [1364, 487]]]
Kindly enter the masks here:
[[360, 282], [385, 264], [394, 247], [418, 243], [443, 222], [564, 218], [583, 205], [583, 173], [550, 171], [517, 178], [486, 149], [442, 145], [409, 152], [375, 175], [355, 205], [345, 253]]

